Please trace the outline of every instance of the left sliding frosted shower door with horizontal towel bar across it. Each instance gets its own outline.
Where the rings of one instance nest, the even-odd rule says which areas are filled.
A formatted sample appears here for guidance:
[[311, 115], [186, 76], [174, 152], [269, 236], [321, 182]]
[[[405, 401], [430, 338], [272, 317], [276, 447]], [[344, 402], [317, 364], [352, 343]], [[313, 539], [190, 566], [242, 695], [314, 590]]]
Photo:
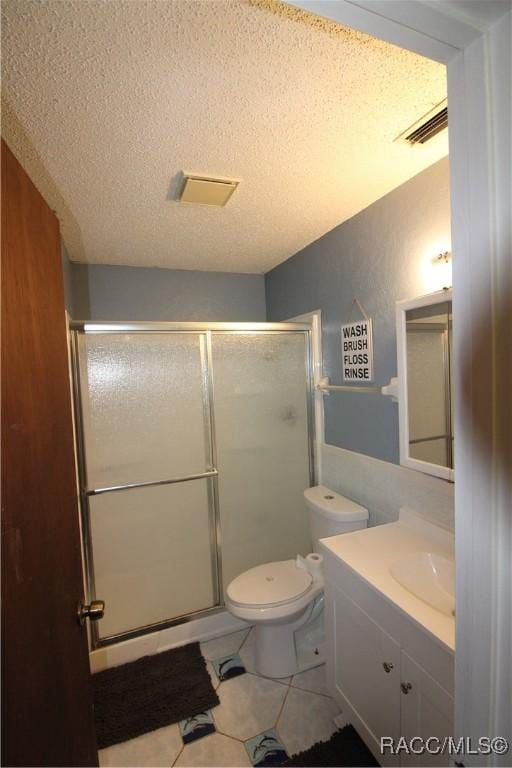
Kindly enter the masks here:
[[78, 335], [100, 637], [218, 602], [206, 335]]

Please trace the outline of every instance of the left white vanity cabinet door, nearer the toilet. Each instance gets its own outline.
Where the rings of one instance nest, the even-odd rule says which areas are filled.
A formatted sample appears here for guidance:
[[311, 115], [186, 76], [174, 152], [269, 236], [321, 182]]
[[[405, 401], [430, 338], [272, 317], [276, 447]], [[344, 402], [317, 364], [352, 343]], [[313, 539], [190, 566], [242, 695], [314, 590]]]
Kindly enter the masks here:
[[333, 607], [337, 692], [382, 762], [380, 737], [397, 738], [400, 732], [400, 646], [338, 589]]

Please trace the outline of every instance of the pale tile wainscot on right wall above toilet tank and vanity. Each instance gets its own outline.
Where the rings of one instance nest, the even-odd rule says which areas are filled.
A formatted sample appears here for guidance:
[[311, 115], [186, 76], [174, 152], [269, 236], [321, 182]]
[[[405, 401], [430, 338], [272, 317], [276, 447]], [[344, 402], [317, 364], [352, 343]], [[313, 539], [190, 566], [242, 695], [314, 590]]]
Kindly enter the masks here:
[[321, 482], [367, 507], [370, 525], [391, 523], [409, 507], [453, 530], [453, 483], [326, 443], [321, 456]]

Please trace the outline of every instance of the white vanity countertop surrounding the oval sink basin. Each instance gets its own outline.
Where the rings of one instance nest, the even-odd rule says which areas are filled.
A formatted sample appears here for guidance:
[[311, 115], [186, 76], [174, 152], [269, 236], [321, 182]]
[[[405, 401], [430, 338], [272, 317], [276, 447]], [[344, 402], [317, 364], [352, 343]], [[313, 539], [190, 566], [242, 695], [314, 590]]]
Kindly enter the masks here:
[[407, 509], [396, 523], [377, 525], [321, 540], [324, 554], [333, 554], [381, 592], [422, 628], [455, 650], [455, 619], [446, 616], [402, 587], [389, 572], [399, 557], [431, 552], [453, 560], [454, 536]]

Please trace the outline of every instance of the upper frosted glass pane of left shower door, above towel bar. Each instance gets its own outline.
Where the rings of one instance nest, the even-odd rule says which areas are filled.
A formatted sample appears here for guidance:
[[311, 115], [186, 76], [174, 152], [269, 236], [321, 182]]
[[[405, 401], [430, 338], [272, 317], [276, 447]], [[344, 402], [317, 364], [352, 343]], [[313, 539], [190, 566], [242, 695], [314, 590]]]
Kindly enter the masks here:
[[210, 469], [204, 336], [79, 336], [88, 487], [169, 480]]

